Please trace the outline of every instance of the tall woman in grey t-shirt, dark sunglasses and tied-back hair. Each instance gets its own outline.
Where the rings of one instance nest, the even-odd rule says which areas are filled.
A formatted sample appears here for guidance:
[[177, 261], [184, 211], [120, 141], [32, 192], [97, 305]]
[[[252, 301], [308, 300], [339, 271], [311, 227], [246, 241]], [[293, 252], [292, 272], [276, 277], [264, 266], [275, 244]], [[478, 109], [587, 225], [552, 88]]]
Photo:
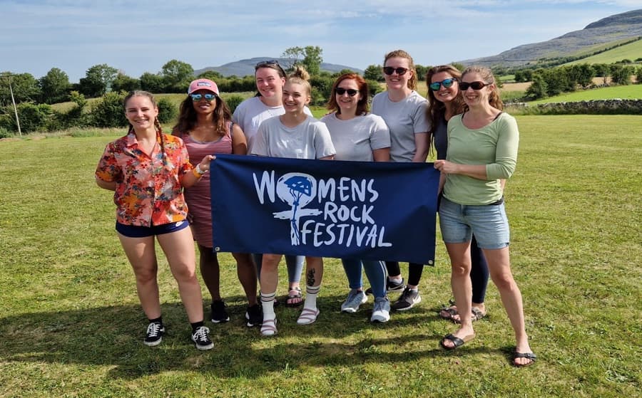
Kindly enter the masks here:
[[[384, 57], [387, 90], [374, 95], [372, 113], [383, 117], [390, 130], [392, 162], [425, 162], [428, 156], [427, 100], [417, 93], [417, 70], [409, 53], [396, 50]], [[408, 231], [412, 234], [412, 231]], [[387, 261], [387, 291], [402, 291], [392, 309], [409, 310], [422, 300], [419, 281], [424, 266], [409, 263], [408, 284], [404, 286], [399, 263]], [[369, 290], [367, 290], [368, 292]]]

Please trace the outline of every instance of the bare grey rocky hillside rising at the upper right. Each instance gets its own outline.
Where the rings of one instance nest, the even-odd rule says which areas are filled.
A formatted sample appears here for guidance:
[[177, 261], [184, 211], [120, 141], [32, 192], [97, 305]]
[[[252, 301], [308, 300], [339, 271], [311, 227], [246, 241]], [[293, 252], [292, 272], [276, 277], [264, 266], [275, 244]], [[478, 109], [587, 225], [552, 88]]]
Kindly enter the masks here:
[[496, 56], [468, 59], [459, 63], [503, 67], [532, 65], [541, 58], [574, 56], [601, 44], [639, 36], [642, 36], [642, 9], [608, 16], [589, 23], [581, 31], [566, 33], [549, 41], [524, 44]]

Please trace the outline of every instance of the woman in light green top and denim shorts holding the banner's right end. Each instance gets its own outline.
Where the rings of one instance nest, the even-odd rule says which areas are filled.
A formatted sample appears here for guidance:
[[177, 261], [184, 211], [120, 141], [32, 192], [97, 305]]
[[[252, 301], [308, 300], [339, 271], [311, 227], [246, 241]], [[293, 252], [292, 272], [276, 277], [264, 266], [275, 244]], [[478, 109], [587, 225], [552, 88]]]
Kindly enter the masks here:
[[519, 130], [514, 117], [501, 111], [503, 104], [489, 68], [464, 70], [459, 89], [466, 110], [449, 120], [446, 159], [434, 162], [444, 177], [439, 224], [450, 256], [452, 291], [461, 317], [459, 330], [444, 337], [441, 345], [454, 350], [475, 337], [469, 277], [474, 234], [515, 332], [513, 365], [532, 365], [536, 357], [524, 327], [521, 293], [511, 273], [509, 224], [501, 189], [501, 179], [511, 177], [515, 169]]

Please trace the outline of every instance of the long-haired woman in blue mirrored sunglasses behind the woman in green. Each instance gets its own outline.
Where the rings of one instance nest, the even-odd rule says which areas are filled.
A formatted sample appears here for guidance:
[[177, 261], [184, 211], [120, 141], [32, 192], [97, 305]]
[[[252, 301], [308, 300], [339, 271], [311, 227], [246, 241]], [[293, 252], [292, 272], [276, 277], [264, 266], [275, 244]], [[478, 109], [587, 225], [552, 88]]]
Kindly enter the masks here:
[[[459, 91], [459, 80], [462, 72], [452, 65], [434, 66], [426, 74], [428, 85], [428, 118], [430, 130], [428, 135], [437, 150], [437, 159], [446, 159], [448, 147], [447, 124], [454, 115], [464, 112], [464, 100]], [[502, 182], [505, 180], [502, 179]], [[443, 182], [442, 182], [443, 183]], [[503, 189], [503, 185], [502, 185]], [[475, 236], [470, 245], [472, 267], [470, 280], [472, 283], [472, 320], [486, 316], [486, 287], [488, 286], [488, 264], [481, 248], [477, 246]], [[451, 305], [439, 311], [439, 316], [459, 323], [461, 318], [457, 313], [457, 305]]]

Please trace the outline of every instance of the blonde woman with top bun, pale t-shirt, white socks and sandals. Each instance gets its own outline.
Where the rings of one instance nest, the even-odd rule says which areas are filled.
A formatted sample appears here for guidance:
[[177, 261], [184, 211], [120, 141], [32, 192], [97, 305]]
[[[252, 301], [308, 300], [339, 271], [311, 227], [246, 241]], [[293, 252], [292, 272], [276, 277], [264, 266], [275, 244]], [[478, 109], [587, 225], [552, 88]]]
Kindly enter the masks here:
[[[309, 75], [303, 68], [297, 68], [283, 86], [283, 115], [265, 120], [250, 146], [250, 154], [270, 157], [292, 157], [297, 159], [332, 159], [335, 147], [325, 124], [306, 115], [305, 105], [310, 103], [312, 88], [307, 79]], [[263, 305], [263, 325], [261, 335], [277, 333], [274, 298], [278, 283], [280, 254], [263, 254], [261, 266], [261, 303]], [[297, 324], [314, 323], [319, 315], [317, 294], [321, 288], [323, 259], [305, 257], [306, 295], [303, 310]]]

